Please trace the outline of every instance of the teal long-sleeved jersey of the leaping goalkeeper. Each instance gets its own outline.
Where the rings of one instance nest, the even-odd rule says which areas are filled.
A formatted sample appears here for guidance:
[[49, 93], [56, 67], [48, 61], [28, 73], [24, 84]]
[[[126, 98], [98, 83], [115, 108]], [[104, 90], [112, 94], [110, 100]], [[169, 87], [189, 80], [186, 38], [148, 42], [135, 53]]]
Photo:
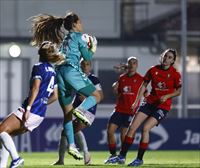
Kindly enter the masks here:
[[64, 54], [66, 63], [76, 69], [80, 69], [79, 62], [82, 57], [85, 60], [91, 60], [93, 55], [82, 36], [81, 32], [70, 32], [65, 36], [60, 47], [60, 52]]

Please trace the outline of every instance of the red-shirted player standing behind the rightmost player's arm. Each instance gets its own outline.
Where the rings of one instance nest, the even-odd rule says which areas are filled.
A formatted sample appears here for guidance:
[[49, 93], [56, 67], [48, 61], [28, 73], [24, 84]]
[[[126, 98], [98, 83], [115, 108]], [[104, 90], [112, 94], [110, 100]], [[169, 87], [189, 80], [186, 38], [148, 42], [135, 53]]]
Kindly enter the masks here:
[[143, 77], [137, 73], [137, 67], [138, 59], [136, 57], [129, 57], [126, 64], [121, 64], [120, 67], [118, 67], [119, 69], [123, 68], [125, 72], [121, 74], [119, 80], [113, 84], [113, 91], [117, 96], [117, 102], [107, 127], [108, 148], [111, 155], [105, 161], [105, 164], [110, 164], [110, 160], [117, 156], [115, 140], [116, 130], [118, 128], [120, 129], [121, 142], [123, 142], [128, 126], [137, 110], [135, 109], [133, 111], [131, 109], [143, 83]]

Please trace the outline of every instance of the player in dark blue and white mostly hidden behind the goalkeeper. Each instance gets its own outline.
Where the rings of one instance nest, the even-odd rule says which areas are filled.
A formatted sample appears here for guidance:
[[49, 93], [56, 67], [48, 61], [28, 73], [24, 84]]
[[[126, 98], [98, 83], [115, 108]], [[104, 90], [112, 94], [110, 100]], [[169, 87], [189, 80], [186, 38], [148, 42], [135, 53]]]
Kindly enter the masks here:
[[[99, 81], [98, 77], [96, 77], [94, 74], [91, 73], [91, 68], [92, 68], [91, 61], [86, 61], [86, 60], [82, 59], [80, 64], [81, 64], [82, 71], [92, 81], [92, 83], [95, 85], [96, 89], [100, 92], [101, 99], [103, 99], [103, 91], [101, 88], [100, 81]], [[73, 106], [74, 107], [79, 106], [84, 99], [85, 99], [84, 96], [77, 93], [75, 100], [73, 102]], [[93, 106], [85, 113], [86, 117], [88, 118], [88, 120], [90, 121], [91, 124], [93, 123], [93, 121], [95, 119], [96, 109], [97, 109], [97, 105]], [[83, 130], [84, 128], [87, 128], [88, 126], [89, 125], [86, 125], [86, 124], [80, 122], [78, 119], [73, 120], [75, 139], [77, 140], [77, 143], [80, 146], [80, 149], [83, 151], [85, 165], [91, 164], [91, 156], [88, 151], [88, 146], [87, 146], [85, 136], [81, 130]], [[60, 139], [60, 143], [59, 143], [59, 158], [58, 158], [58, 161], [55, 162], [53, 165], [64, 165], [64, 154], [65, 154], [66, 148], [67, 148], [66, 137], [64, 136], [64, 133], [62, 131], [61, 139]]]

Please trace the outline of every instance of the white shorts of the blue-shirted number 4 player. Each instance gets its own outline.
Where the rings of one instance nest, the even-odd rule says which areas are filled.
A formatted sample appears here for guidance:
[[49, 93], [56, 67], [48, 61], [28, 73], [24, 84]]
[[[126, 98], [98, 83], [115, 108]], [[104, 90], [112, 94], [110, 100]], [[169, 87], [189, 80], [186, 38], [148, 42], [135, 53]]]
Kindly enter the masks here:
[[[22, 120], [22, 116], [24, 112], [25, 110], [22, 107], [19, 107], [16, 111], [13, 111], [12, 114], [16, 115], [17, 118]], [[43, 120], [44, 120], [44, 117], [30, 113], [28, 120], [25, 122], [25, 127], [29, 131], [33, 131], [33, 129], [37, 128], [42, 123]]]

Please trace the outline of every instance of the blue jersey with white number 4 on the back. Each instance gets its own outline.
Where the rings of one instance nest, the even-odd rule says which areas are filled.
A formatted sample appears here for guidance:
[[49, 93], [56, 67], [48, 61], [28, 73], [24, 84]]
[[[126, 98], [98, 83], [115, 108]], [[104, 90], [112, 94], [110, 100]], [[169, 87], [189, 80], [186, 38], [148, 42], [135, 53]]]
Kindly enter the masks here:
[[[45, 116], [48, 99], [53, 93], [56, 86], [55, 76], [55, 70], [53, 66], [48, 62], [39, 62], [33, 66], [30, 79], [30, 89], [32, 88], [34, 79], [40, 79], [41, 84], [38, 95], [31, 107], [31, 113], [34, 113], [41, 117]], [[26, 106], [28, 104], [29, 96], [24, 100], [22, 104], [22, 108], [24, 109], [26, 109]]]

